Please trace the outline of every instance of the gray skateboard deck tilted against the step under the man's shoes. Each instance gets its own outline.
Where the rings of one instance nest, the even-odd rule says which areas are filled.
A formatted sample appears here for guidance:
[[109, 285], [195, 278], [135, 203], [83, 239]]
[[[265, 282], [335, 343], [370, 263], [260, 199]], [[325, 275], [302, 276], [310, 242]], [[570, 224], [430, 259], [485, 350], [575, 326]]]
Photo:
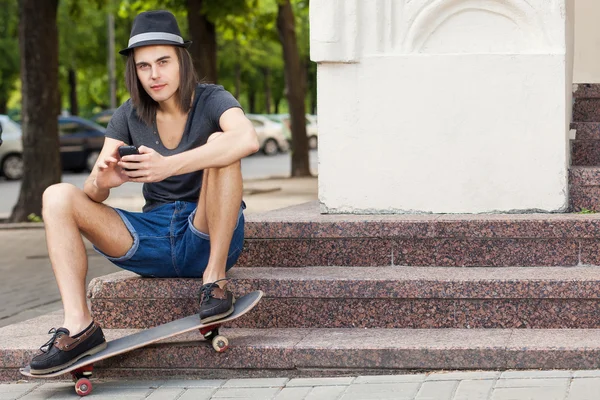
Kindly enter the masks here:
[[[199, 314], [190, 315], [189, 317], [181, 318], [163, 325], [156, 326], [154, 328], [144, 329], [140, 332], [136, 332], [134, 334], [124, 336], [119, 339], [111, 340], [107, 343], [107, 346], [104, 350], [94, 355], [84, 357], [81, 360], [74, 363], [73, 365], [61, 369], [60, 371], [42, 375], [32, 374], [30, 371], [30, 366], [27, 365], [26, 367], [21, 368], [19, 372], [21, 372], [22, 375], [31, 378], [52, 378], [81, 369], [82, 367], [85, 367], [92, 363], [105, 360], [107, 358], [119, 354], [127, 353], [128, 351], [139, 349], [141, 347], [147, 346], [152, 343], [156, 343], [163, 339], [168, 339], [170, 337], [177, 336], [182, 333], [193, 331], [195, 329], [200, 329], [201, 331], [209, 332], [211, 331], [211, 328], [216, 329], [220, 325], [233, 321], [246, 314], [248, 311], [252, 310], [254, 306], [258, 304], [263, 294], [264, 293], [261, 290], [257, 290], [255, 292], [248, 293], [240, 297], [239, 299], [236, 299], [233, 313], [223, 319], [212, 321], [207, 324], [202, 324], [200, 322]], [[221, 340], [225, 343], [225, 346], [227, 347], [227, 338], [218, 335], [218, 333], [215, 336], [216, 337], [213, 338], [213, 347], [215, 347], [215, 339], [217, 341]], [[217, 349], [217, 347], [215, 347], [215, 350], [220, 351]]]

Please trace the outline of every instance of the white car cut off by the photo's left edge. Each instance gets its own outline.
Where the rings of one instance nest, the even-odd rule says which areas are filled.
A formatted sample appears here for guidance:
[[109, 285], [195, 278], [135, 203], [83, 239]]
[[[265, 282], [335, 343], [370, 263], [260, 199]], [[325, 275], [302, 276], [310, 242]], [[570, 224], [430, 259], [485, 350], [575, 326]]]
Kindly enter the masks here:
[[23, 176], [23, 141], [21, 127], [7, 115], [0, 115], [2, 145], [0, 145], [0, 176], [9, 180]]

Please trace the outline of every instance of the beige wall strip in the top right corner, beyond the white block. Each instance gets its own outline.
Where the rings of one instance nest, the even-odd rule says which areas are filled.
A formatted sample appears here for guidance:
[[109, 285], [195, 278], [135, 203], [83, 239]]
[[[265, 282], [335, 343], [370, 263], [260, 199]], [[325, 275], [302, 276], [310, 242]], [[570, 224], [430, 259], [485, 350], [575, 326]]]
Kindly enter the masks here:
[[600, 1], [575, 1], [574, 83], [600, 83]]

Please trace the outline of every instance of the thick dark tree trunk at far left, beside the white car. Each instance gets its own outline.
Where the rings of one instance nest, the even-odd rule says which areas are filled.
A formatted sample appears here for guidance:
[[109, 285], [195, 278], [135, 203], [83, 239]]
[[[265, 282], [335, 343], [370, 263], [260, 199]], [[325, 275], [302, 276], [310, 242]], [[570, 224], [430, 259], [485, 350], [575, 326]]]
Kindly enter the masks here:
[[27, 221], [32, 213], [41, 216], [44, 190], [60, 182], [62, 175], [56, 113], [58, 1], [19, 1], [25, 169], [19, 200], [9, 219], [12, 222]]

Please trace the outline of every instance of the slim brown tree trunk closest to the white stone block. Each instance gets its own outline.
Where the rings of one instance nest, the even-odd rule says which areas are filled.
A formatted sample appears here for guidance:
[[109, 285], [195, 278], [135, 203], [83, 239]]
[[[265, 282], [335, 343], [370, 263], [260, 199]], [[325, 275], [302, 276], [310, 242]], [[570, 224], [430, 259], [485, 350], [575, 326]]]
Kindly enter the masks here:
[[311, 176], [308, 163], [308, 138], [306, 137], [306, 85], [300, 63], [294, 12], [290, 0], [279, 3], [277, 30], [283, 47], [286, 95], [290, 108], [292, 130], [292, 176]]

